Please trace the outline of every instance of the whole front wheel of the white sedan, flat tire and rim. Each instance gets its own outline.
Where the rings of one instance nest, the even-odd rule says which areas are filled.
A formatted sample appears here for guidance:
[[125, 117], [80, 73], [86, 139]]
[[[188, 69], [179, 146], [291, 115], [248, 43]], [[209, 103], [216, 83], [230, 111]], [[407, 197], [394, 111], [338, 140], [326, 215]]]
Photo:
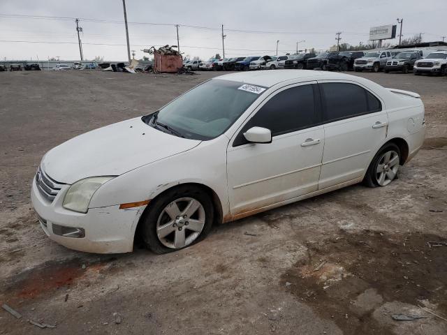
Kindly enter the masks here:
[[[193, 209], [188, 213], [189, 206], [193, 206]], [[186, 217], [182, 218], [183, 215]], [[149, 204], [142, 217], [140, 232], [146, 247], [151, 251], [170, 253], [204, 239], [212, 228], [213, 220], [212, 200], [202, 188], [178, 186]]]

